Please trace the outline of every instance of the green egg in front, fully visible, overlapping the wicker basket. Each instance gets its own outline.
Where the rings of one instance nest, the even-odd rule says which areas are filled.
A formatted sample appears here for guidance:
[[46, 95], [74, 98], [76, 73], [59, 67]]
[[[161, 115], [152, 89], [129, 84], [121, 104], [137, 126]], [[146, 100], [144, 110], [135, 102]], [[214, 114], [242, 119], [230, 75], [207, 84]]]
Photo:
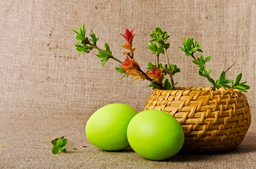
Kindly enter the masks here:
[[137, 154], [150, 160], [164, 160], [177, 154], [184, 143], [180, 123], [160, 110], [146, 110], [130, 121], [128, 141]]

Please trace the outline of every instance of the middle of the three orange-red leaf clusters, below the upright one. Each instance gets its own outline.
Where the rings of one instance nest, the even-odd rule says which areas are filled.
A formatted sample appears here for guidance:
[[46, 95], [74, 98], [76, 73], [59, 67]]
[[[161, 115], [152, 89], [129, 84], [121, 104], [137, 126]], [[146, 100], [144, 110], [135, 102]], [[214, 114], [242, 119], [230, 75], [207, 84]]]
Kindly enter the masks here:
[[142, 72], [140, 72], [138, 69], [138, 67], [140, 68], [139, 63], [137, 63], [134, 59], [130, 60], [127, 55], [125, 61], [121, 64], [121, 66], [126, 74], [130, 74], [131, 77], [137, 77], [136, 79], [132, 80], [131, 83], [138, 79], [146, 79], [145, 75], [142, 74]]

